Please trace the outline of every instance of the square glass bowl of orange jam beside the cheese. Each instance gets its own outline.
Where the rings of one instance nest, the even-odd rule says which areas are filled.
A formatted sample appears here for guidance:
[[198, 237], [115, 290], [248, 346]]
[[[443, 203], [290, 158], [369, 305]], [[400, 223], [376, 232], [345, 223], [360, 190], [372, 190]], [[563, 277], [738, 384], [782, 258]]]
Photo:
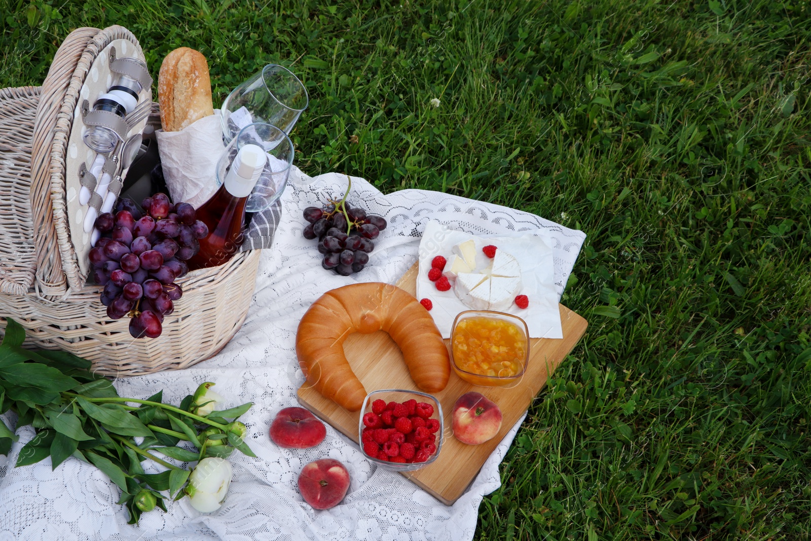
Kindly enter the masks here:
[[468, 310], [453, 321], [451, 366], [462, 380], [482, 387], [515, 383], [529, 360], [530, 331], [520, 317]]

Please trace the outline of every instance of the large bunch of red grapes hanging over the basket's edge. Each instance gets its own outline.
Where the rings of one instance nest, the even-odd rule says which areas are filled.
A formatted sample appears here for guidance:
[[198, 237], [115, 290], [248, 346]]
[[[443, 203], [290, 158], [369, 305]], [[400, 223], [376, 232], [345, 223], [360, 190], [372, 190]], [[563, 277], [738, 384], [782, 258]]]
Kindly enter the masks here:
[[[116, 213], [103, 213], [96, 229], [104, 234], [90, 250], [93, 278], [100, 286], [107, 316], [130, 319], [135, 338], [161, 336], [164, 316], [174, 311], [183, 294], [176, 278], [189, 272], [186, 261], [200, 251], [198, 239], [208, 227], [188, 203], [171, 204], [165, 194], [141, 203], [118, 201]], [[109, 236], [107, 236], [109, 234]]]

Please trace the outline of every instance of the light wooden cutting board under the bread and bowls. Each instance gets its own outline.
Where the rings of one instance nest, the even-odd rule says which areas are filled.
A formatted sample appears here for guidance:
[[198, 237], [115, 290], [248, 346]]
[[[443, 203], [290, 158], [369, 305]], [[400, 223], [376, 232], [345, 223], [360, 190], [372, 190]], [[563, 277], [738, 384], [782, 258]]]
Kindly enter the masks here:
[[[417, 290], [417, 264], [406, 272], [397, 286], [410, 294]], [[461, 380], [451, 370], [448, 386], [434, 396], [442, 404], [444, 413], [444, 441], [440, 456], [422, 470], [405, 472], [403, 475], [419, 487], [435, 496], [444, 505], [452, 505], [481, 470], [487, 457], [521, 418], [533, 398], [547, 383], [547, 376], [574, 349], [577, 341], [586, 333], [588, 323], [569, 308], [560, 305], [560, 322], [563, 338], [532, 338], [530, 340], [530, 362], [526, 376], [511, 389], [504, 387], [477, 387]], [[448, 345], [450, 340], [445, 340]], [[354, 333], [344, 342], [346, 359], [367, 393], [376, 389], [417, 389], [405, 367], [400, 349], [388, 336], [378, 331], [371, 334]], [[478, 391], [501, 409], [503, 422], [498, 435], [492, 440], [478, 445], [466, 445], [453, 437], [453, 405], [457, 398], [469, 391]], [[358, 441], [358, 419], [360, 412], [350, 412], [335, 402], [324, 398], [305, 382], [298, 389], [298, 401], [315, 415], [331, 424], [355, 442]]]

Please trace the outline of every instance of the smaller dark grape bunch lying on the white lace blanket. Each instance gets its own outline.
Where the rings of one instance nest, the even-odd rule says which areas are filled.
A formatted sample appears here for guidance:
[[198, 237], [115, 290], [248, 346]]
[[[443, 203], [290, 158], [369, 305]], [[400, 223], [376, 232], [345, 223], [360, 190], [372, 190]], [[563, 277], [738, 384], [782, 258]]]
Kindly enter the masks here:
[[384, 217], [366, 213], [363, 208], [350, 208], [344, 201], [325, 208], [307, 207], [304, 238], [318, 238], [318, 251], [324, 254], [321, 266], [341, 276], [359, 273], [375, 249], [372, 242], [386, 229]]

